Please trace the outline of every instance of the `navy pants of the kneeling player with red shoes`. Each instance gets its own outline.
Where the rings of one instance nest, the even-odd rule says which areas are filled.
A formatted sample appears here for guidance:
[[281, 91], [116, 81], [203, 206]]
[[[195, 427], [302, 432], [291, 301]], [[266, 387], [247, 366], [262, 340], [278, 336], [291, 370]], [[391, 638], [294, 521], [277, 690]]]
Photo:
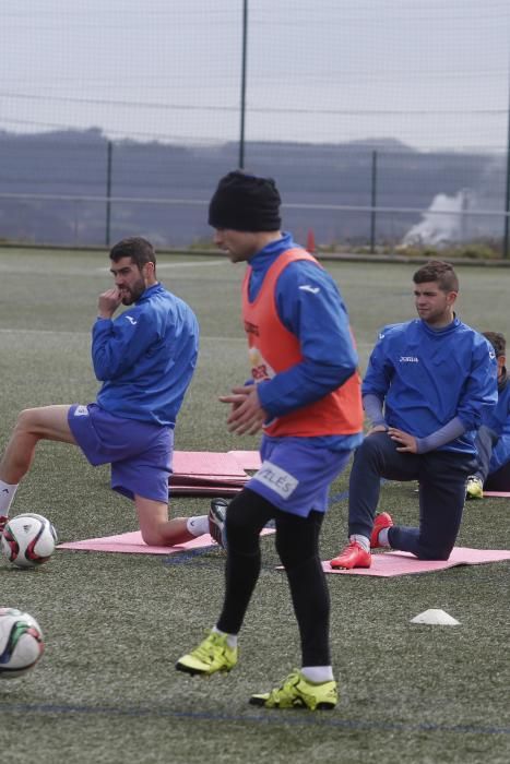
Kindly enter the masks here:
[[376, 432], [365, 438], [356, 451], [348, 491], [349, 535], [370, 537], [381, 477], [417, 480], [419, 527], [393, 526], [388, 534], [389, 544], [420, 560], [448, 560], [461, 525], [466, 477], [476, 463], [471, 454], [402, 454], [396, 447], [387, 432]]

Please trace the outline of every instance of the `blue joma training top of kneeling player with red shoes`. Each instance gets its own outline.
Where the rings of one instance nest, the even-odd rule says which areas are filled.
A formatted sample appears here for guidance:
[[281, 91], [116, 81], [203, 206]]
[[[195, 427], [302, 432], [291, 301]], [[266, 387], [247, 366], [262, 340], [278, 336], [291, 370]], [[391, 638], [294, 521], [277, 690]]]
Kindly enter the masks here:
[[414, 319], [381, 330], [361, 394], [384, 402], [384, 420], [426, 438], [459, 417], [465, 432], [439, 446], [475, 453], [474, 437], [497, 401], [496, 358], [488, 341], [455, 318], [432, 330]]

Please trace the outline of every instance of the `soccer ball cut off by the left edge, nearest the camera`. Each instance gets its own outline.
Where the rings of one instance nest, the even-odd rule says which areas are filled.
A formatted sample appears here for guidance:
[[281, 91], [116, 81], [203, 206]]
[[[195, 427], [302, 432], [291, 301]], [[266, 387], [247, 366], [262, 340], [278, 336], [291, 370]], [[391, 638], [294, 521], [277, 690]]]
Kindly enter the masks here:
[[44, 652], [43, 632], [35, 618], [16, 608], [0, 608], [0, 679], [21, 677]]

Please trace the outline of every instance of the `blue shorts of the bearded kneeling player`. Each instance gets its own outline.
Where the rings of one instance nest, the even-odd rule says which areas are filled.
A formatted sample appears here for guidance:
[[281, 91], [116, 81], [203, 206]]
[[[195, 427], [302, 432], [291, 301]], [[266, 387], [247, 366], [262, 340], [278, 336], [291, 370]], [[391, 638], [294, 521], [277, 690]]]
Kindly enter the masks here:
[[111, 488], [128, 499], [134, 494], [168, 501], [174, 430], [117, 417], [97, 404], [71, 406], [69, 427], [88, 462], [111, 464]]

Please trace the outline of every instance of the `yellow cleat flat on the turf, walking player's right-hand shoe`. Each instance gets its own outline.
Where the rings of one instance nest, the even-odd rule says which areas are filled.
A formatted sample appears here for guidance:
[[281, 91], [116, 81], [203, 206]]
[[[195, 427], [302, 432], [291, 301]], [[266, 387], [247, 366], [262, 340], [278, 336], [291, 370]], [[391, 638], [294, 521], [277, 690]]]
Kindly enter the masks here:
[[250, 697], [252, 706], [264, 708], [330, 711], [337, 702], [339, 693], [334, 680], [316, 684], [308, 681], [298, 669], [289, 673], [280, 688]]

